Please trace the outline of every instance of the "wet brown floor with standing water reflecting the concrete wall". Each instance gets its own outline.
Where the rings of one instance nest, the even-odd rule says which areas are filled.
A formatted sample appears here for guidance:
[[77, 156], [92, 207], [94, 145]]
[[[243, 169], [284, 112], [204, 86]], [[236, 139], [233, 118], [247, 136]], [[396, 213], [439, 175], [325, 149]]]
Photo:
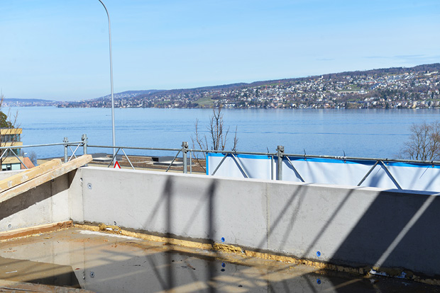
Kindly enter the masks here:
[[440, 292], [75, 228], [0, 243], [0, 279], [93, 292]]

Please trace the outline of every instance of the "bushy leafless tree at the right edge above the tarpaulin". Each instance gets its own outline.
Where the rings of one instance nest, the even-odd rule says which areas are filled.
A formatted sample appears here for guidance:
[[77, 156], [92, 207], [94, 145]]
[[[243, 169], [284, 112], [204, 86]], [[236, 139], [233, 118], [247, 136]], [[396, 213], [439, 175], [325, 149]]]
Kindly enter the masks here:
[[434, 161], [440, 159], [440, 121], [413, 124], [411, 136], [400, 150], [401, 159]]

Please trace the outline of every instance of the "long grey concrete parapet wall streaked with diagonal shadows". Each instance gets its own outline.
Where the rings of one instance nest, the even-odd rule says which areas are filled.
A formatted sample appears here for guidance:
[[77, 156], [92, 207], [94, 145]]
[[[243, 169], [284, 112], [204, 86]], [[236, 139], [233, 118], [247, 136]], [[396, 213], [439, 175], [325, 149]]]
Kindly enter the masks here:
[[440, 271], [435, 193], [87, 167], [68, 197], [77, 222], [353, 267]]

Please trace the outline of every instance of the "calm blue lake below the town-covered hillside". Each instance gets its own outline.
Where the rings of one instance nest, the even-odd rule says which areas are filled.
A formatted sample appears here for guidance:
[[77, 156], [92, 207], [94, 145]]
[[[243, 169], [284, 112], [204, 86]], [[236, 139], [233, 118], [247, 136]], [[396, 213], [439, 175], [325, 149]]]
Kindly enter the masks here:
[[[8, 108], [4, 109], [6, 113]], [[79, 141], [83, 133], [89, 144], [111, 145], [111, 109], [20, 107], [18, 123], [22, 141], [28, 144]], [[116, 145], [180, 148], [199, 130], [207, 133], [211, 109], [115, 109]], [[285, 146], [288, 154], [395, 158], [409, 137], [412, 123], [439, 119], [439, 109], [224, 109], [224, 124], [231, 127], [229, 142], [237, 127], [238, 151], [275, 152]], [[38, 158], [62, 156], [62, 146], [27, 149]], [[110, 149], [89, 152], [111, 153]], [[131, 154], [171, 155], [158, 151]]]

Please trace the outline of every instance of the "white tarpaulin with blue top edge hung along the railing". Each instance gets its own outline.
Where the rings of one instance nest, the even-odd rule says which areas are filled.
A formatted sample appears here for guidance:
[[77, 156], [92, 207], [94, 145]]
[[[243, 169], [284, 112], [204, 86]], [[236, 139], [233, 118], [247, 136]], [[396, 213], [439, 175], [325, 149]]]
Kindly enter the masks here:
[[[207, 154], [207, 175], [212, 175], [225, 154]], [[215, 176], [234, 178], [258, 178], [274, 180], [277, 157], [264, 155], [229, 154], [221, 163]], [[404, 190], [426, 190], [440, 192], [440, 166], [422, 163], [397, 163], [367, 160], [317, 159], [284, 157], [282, 180], [305, 183], [356, 186], [368, 174], [361, 186]], [[292, 164], [290, 163], [292, 162]], [[295, 167], [293, 168], [292, 165]], [[243, 171], [241, 171], [243, 168]], [[295, 171], [296, 170], [296, 171]]]

